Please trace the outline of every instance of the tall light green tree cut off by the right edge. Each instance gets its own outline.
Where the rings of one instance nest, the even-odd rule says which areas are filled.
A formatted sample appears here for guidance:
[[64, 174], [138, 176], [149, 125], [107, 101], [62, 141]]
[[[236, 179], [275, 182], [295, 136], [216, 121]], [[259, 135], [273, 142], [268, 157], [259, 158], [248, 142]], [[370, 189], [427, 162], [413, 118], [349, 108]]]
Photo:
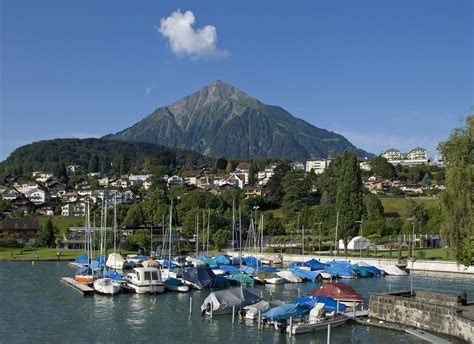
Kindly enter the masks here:
[[474, 170], [474, 116], [466, 126], [456, 128], [438, 149], [446, 166], [446, 189], [441, 194], [444, 215], [442, 234], [459, 263], [471, 265], [474, 259], [474, 225], [472, 175]]

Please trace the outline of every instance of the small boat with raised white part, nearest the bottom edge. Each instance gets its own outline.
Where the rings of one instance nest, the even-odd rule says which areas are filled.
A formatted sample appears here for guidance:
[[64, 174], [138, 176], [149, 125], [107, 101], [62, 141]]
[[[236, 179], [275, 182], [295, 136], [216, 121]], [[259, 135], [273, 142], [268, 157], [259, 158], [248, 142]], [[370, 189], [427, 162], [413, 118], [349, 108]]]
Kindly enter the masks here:
[[309, 319], [307, 321], [297, 322], [291, 326], [287, 326], [286, 332], [291, 335], [297, 335], [301, 333], [327, 330], [329, 325], [331, 328], [338, 327], [343, 325], [347, 319], [347, 316], [338, 313], [326, 316], [324, 303], [317, 303], [309, 312]]

